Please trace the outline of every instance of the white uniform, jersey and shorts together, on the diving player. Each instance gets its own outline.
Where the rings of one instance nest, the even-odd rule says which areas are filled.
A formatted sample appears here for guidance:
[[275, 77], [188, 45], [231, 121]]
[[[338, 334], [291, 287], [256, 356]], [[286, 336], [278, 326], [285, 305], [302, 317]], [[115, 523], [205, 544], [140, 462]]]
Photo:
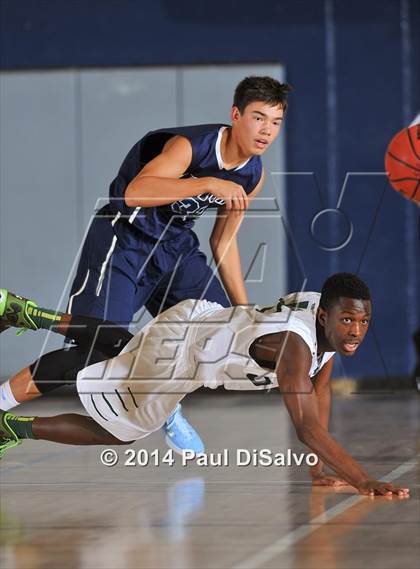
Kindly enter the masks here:
[[288, 295], [272, 307], [223, 308], [206, 300], [184, 300], [149, 322], [111, 360], [77, 376], [86, 411], [122, 441], [159, 429], [179, 401], [202, 385], [226, 389], [270, 389], [276, 374], [249, 355], [251, 344], [275, 332], [294, 332], [312, 354], [312, 377], [333, 352], [317, 359], [318, 293]]

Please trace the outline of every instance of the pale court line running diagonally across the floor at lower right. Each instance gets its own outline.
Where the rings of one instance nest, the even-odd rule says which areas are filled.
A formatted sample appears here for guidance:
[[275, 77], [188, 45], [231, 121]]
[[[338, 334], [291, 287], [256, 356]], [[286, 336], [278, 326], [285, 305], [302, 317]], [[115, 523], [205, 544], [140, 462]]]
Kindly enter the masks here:
[[[383, 476], [380, 480], [382, 480], [383, 482], [392, 482], [393, 480], [396, 480], [403, 474], [406, 474], [407, 472], [415, 468], [419, 457], [420, 455], [416, 455], [414, 458], [408, 460], [407, 462], [404, 462], [394, 470], [391, 470], [391, 472], [389, 472], [386, 476]], [[312, 518], [309, 524], [304, 524], [292, 530], [291, 532], [287, 533], [280, 539], [276, 540], [271, 545], [268, 545], [267, 547], [265, 547], [255, 555], [252, 555], [248, 559], [234, 565], [232, 569], [258, 569], [259, 567], [261, 567], [265, 563], [268, 563], [274, 557], [276, 557], [277, 555], [288, 549], [290, 546], [295, 545], [301, 539], [304, 539], [305, 537], [307, 537], [308, 535], [319, 529], [320, 525], [329, 522], [330, 520], [332, 520], [333, 518], [344, 512], [345, 510], [351, 508], [357, 502], [360, 502], [361, 500], [364, 500], [366, 498], [367, 496], [362, 496], [360, 494], [351, 496], [350, 498], [346, 498], [336, 506], [333, 506], [332, 508], [326, 510], [320, 516]]]

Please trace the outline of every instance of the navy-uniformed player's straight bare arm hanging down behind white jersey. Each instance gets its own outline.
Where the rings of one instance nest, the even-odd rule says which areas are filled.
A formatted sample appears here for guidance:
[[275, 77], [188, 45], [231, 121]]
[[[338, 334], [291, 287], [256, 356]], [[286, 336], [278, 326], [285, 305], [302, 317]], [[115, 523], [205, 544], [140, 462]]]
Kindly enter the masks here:
[[[251, 201], [261, 190], [264, 183], [264, 172], [260, 181], [248, 196]], [[237, 234], [242, 224], [245, 211], [219, 209], [212, 234], [210, 247], [217, 263], [220, 278], [233, 305], [248, 304]]]

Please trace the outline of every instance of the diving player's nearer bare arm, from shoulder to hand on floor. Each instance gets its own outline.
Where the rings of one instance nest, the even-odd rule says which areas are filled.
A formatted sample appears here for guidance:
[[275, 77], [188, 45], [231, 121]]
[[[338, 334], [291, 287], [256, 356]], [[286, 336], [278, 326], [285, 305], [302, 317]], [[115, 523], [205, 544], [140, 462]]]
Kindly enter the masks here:
[[309, 378], [311, 353], [293, 332], [259, 338], [252, 357], [260, 365], [276, 366], [280, 392], [300, 441], [361, 494], [404, 495], [408, 489], [369, 478], [365, 470], [337, 443], [321, 423], [318, 398]]

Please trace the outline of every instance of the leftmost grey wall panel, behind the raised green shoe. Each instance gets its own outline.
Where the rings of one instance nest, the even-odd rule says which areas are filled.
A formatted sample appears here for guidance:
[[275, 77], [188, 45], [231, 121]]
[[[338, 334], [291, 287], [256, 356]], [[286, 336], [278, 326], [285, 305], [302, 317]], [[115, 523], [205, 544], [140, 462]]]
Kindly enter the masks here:
[[[0, 81], [0, 286], [41, 305], [59, 304], [77, 246], [74, 88], [72, 72], [4, 73]], [[30, 363], [45, 338], [4, 333], [1, 376]]]

